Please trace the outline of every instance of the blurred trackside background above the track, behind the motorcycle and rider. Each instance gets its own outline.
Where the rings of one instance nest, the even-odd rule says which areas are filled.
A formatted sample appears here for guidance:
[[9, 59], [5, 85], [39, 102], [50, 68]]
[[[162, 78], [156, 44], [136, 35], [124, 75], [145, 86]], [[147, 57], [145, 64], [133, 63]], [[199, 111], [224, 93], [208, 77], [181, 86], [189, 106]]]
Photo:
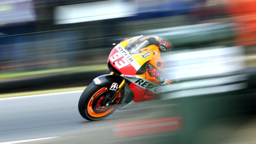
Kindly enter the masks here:
[[107, 70], [113, 42], [141, 34], [168, 38], [175, 52], [243, 46], [246, 66], [254, 66], [254, 5], [254, 0], [1, 0], [0, 90], [83, 85], [92, 79], [85, 74]]

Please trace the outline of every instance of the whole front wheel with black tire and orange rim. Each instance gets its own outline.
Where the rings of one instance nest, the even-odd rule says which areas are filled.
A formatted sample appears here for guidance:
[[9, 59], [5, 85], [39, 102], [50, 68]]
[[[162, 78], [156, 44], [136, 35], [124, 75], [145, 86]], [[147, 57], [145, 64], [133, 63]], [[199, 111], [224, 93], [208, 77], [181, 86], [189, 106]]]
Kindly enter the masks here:
[[101, 120], [112, 114], [121, 103], [122, 90], [116, 95], [116, 100], [111, 105], [102, 105], [102, 99], [108, 94], [108, 85], [99, 86], [91, 83], [83, 91], [79, 102], [79, 113], [87, 120]]

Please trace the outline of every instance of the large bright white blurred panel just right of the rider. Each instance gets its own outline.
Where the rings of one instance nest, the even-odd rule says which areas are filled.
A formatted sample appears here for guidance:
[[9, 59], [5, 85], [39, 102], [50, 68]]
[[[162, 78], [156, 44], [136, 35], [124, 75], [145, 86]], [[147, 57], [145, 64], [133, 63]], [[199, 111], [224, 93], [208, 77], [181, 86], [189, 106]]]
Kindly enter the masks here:
[[168, 55], [166, 71], [179, 79], [234, 75], [245, 68], [242, 47], [195, 49]]

